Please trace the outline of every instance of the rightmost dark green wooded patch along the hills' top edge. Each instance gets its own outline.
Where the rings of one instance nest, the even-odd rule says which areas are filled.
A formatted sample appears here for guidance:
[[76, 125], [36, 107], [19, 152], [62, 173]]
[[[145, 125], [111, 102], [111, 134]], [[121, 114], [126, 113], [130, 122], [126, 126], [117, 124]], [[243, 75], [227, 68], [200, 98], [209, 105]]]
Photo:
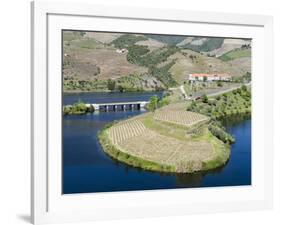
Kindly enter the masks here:
[[224, 38], [208, 38], [202, 45], [192, 45], [190, 43], [183, 48], [190, 49], [195, 52], [209, 52], [222, 46]]

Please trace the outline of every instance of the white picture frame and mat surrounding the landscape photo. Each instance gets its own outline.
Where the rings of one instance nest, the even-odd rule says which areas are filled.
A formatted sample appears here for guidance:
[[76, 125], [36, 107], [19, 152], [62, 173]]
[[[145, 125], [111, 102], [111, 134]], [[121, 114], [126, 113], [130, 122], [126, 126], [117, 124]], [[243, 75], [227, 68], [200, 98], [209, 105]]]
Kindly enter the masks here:
[[[62, 195], [62, 29], [251, 38], [252, 185]], [[272, 17], [35, 1], [31, 41], [34, 224], [272, 208]]]

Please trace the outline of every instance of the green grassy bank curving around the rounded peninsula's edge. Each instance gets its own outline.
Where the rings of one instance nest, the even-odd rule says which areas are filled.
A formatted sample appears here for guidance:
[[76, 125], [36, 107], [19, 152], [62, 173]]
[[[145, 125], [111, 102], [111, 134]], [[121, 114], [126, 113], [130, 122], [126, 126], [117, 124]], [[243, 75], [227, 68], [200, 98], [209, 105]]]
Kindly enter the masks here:
[[[145, 114], [142, 114], [142, 116], [145, 117], [146, 116]], [[136, 118], [133, 117], [130, 118], [129, 120], [134, 120], [134, 119]], [[118, 125], [120, 123], [124, 123], [127, 120], [128, 119], [121, 120], [116, 123], [108, 124], [98, 134], [98, 140], [102, 146], [103, 151], [114, 160], [125, 163], [127, 165], [141, 168], [148, 171], [155, 171], [155, 172], [157, 171], [157, 172], [174, 173], [174, 174], [193, 174], [196, 172], [203, 172], [203, 171], [208, 171], [208, 170], [222, 167], [227, 163], [227, 161], [230, 158], [230, 149], [231, 149], [230, 144], [223, 143], [221, 140], [219, 140], [217, 137], [211, 134], [209, 130], [207, 131], [207, 134], [204, 135], [203, 137], [199, 136], [198, 140], [195, 138], [196, 139], [195, 142], [202, 142], [202, 141], [208, 142], [212, 146], [212, 155], [210, 159], [198, 160], [198, 161], [193, 161], [191, 159], [187, 161], [182, 161], [180, 162], [181, 164], [180, 167], [178, 167], [179, 165], [175, 166], [173, 164], [167, 164], [167, 163], [165, 164], [163, 162], [156, 161], [156, 160], [152, 161], [140, 156], [130, 154], [128, 152], [124, 152], [120, 148], [120, 146], [112, 143], [112, 140], [109, 137], [109, 130], [113, 126]], [[194, 140], [191, 140], [191, 142], [194, 142]], [[199, 163], [199, 167], [198, 167], [198, 163]]]

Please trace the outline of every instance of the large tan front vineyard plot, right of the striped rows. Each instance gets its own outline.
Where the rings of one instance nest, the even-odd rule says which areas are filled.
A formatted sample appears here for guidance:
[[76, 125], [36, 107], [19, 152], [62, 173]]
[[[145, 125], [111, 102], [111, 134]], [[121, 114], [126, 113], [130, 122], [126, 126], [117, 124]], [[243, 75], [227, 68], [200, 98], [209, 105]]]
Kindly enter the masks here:
[[[208, 142], [184, 142], [150, 130], [122, 141], [119, 146], [131, 155], [173, 166], [177, 172], [198, 171], [202, 162], [213, 156], [212, 145]], [[190, 163], [197, 165], [187, 168]]]

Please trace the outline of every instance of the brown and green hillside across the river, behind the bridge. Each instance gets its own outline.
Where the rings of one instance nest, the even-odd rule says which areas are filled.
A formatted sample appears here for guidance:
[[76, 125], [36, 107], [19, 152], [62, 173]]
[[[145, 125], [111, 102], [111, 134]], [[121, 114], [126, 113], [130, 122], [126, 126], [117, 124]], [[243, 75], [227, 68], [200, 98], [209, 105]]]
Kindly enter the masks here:
[[148, 91], [189, 73], [251, 72], [251, 41], [104, 32], [63, 32], [64, 91]]

